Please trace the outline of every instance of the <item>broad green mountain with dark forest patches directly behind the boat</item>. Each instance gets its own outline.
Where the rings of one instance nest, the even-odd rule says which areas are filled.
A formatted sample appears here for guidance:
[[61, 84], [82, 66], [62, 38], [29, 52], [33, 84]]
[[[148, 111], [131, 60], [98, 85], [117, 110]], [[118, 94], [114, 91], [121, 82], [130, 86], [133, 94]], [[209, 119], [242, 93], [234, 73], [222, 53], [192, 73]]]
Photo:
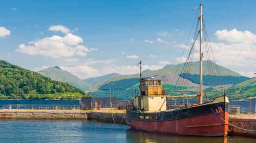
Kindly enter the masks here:
[[[183, 79], [187, 82], [187, 88], [189, 90], [195, 90], [199, 86], [199, 82], [197, 77], [199, 76], [199, 62], [191, 62], [190, 72], [186, 73], [185, 75], [180, 74], [184, 63], [180, 65], [166, 65], [162, 69], [154, 70], [154, 71], [148, 71], [142, 73], [142, 78], [148, 78], [154, 76], [155, 78], [164, 79], [163, 84], [167, 86], [168, 89], [173, 89], [174, 85], [177, 83], [177, 79]], [[208, 72], [208, 65], [215, 63], [211, 61], [203, 61], [203, 76], [204, 85], [220, 85], [222, 84], [228, 84], [225, 85], [225, 87], [230, 87], [232, 84], [236, 84], [242, 81], [245, 81], [249, 79], [248, 77], [241, 76], [239, 73], [233, 72], [225, 67], [222, 67], [220, 65], [217, 65], [217, 68], [219, 70], [220, 79], [219, 76], [217, 76], [217, 72], [214, 72], [214, 76], [209, 75]], [[216, 68], [214, 66], [214, 68]], [[183, 72], [184, 73], [184, 72]], [[105, 80], [102, 80], [101, 82], [98, 82], [96, 84], [97, 91], [91, 91], [90, 94], [94, 96], [109, 96], [109, 87], [110, 85], [107, 83], [115, 83], [113, 84], [113, 88], [115, 90], [115, 95], [118, 98], [121, 99], [130, 99], [132, 95], [132, 89], [138, 88], [138, 79], [139, 74], [132, 74], [132, 75], [117, 75], [111, 78], [106, 78]], [[212, 80], [215, 79], [215, 80]], [[214, 82], [215, 83], [212, 83]], [[182, 86], [180, 84], [177, 84], [178, 86]], [[220, 86], [218, 86], [220, 87]], [[182, 88], [182, 87], [180, 87]], [[209, 87], [206, 87], [209, 88]], [[207, 89], [211, 91], [211, 88]]]

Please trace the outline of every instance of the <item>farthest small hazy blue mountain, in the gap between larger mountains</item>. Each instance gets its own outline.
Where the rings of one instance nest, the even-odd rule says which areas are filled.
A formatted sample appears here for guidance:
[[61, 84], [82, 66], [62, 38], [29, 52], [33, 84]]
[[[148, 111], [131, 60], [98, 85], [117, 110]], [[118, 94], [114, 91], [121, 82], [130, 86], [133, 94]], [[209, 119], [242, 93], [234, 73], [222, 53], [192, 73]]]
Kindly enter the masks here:
[[100, 83], [101, 81], [104, 81], [106, 79], [118, 76], [120, 74], [118, 73], [111, 73], [111, 74], [106, 74], [103, 76], [99, 76], [99, 77], [91, 77], [91, 78], [87, 78], [87, 79], [83, 79], [83, 81], [90, 83], [92, 86], [97, 85], [98, 83]]

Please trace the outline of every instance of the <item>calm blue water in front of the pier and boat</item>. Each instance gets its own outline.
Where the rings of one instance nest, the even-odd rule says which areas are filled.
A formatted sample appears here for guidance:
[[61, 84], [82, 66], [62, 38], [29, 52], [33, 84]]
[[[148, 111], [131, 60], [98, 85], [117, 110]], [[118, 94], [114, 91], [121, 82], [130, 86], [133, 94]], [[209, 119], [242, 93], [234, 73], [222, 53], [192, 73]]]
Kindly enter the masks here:
[[0, 142], [255, 142], [243, 136], [200, 137], [132, 130], [90, 120], [0, 120]]

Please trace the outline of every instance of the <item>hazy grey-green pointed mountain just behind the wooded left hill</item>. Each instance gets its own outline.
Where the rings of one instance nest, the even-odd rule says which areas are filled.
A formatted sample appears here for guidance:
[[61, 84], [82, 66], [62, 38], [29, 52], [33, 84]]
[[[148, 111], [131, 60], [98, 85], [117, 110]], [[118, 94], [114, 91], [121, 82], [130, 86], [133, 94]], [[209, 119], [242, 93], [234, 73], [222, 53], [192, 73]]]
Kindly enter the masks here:
[[38, 73], [46, 77], [50, 77], [53, 80], [68, 82], [69, 84], [83, 91], [86, 91], [91, 87], [91, 85], [88, 84], [86, 81], [82, 81], [77, 76], [71, 74], [68, 71], [62, 70], [57, 66], [40, 70], [38, 71]]

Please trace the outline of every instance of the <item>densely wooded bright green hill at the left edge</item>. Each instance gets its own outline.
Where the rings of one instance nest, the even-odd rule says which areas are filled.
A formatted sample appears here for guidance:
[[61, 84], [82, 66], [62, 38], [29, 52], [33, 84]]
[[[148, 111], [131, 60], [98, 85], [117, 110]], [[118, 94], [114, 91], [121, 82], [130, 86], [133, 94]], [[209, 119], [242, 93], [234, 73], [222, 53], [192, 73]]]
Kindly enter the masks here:
[[81, 96], [87, 95], [67, 82], [0, 60], [1, 99], [79, 99]]

